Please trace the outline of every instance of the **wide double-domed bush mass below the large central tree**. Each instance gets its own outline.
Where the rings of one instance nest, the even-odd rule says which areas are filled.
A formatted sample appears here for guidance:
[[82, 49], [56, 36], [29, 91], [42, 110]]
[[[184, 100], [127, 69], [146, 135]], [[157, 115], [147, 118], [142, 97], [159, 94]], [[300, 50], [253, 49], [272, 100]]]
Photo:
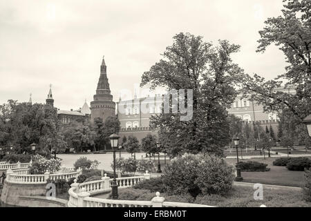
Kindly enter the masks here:
[[233, 180], [233, 169], [224, 160], [191, 154], [171, 160], [162, 175], [167, 193], [190, 194], [194, 198], [200, 193], [227, 193]]

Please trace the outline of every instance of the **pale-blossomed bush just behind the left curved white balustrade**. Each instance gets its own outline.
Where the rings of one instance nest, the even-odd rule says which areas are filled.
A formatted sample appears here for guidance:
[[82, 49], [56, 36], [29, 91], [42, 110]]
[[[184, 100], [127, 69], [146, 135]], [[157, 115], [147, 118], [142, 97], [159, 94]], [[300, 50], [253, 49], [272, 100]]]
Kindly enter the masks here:
[[30, 174], [44, 174], [46, 171], [55, 173], [60, 170], [61, 164], [61, 160], [59, 159], [47, 160], [41, 155], [36, 155], [29, 171]]

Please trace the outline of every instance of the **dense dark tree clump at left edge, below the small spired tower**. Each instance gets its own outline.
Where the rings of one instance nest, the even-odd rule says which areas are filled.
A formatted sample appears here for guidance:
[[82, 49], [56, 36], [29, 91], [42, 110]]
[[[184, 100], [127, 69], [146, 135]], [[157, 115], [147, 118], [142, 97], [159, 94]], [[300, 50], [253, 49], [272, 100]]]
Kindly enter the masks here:
[[49, 141], [57, 148], [64, 148], [62, 137], [57, 133], [59, 126], [57, 109], [51, 106], [12, 100], [0, 105], [0, 144], [12, 144], [17, 153], [29, 152], [32, 143], [37, 144], [37, 151], [48, 153]]

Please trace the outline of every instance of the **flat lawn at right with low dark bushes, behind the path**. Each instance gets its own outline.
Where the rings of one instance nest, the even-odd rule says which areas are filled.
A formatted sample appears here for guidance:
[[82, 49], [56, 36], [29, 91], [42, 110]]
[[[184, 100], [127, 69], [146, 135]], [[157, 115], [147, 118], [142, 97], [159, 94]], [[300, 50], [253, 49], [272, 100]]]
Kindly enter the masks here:
[[[252, 161], [268, 164], [270, 171], [266, 172], [241, 172], [243, 182], [253, 182], [261, 184], [298, 186], [303, 184], [303, 171], [289, 171], [285, 166], [273, 166], [272, 162], [277, 158], [257, 158]], [[225, 159], [229, 164], [236, 164], [236, 159]], [[248, 161], [248, 160], [242, 160]]]

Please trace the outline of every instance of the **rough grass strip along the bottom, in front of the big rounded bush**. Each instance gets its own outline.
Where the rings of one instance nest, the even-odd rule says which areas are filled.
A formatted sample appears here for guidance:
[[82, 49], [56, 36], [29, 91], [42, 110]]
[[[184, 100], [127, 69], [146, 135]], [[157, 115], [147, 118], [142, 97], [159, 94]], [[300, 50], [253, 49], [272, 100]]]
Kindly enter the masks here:
[[[311, 207], [306, 202], [303, 192], [297, 190], [263, 189], [263, 200], [254, 200], [254, 189], [247, 186], [234, 186], [227, 195], [198, 195], [196, 199], [189, 195], [168, 195], [161, 193], [166, 201], [190, 202], [219, 207], [259, 207], [265, 204], [268, 207]], [[156, 193], [144, 189], [120, 189], [119, 200], [151, 200]]]

